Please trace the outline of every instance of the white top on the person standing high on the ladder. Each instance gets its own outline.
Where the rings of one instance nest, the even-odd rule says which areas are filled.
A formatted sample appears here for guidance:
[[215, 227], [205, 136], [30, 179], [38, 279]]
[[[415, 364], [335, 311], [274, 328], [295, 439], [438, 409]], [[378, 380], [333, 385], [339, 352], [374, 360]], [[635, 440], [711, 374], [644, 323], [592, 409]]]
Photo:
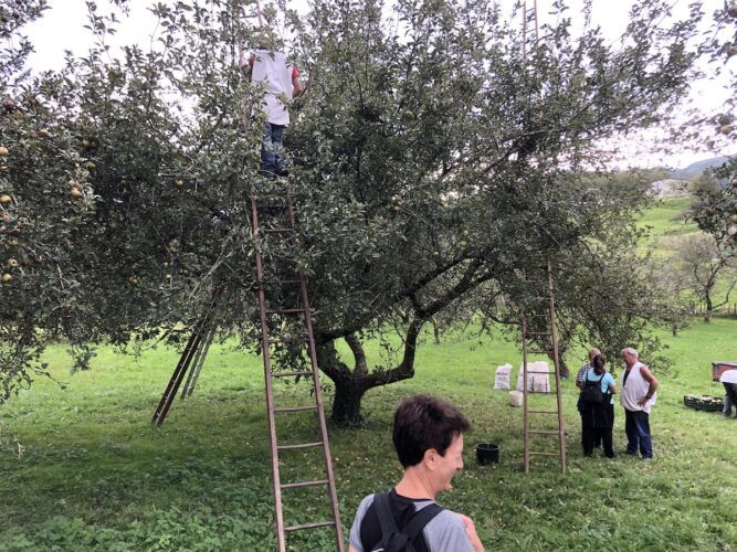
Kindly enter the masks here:
[[289, 110], [284, 98], [292, 100], [292, 72], [283, 52], [256, 50], [254, 53], [251, 81], [263, 83], [264, 100], [262, 109], [266, 120], [273, 125], [288, 125]]

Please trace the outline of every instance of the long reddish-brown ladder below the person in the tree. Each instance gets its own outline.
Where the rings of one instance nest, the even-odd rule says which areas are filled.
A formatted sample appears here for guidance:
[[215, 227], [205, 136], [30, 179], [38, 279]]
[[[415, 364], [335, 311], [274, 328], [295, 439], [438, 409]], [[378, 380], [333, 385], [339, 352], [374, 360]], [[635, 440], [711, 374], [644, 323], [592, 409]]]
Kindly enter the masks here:
[[[261, 227], [259, 224], [259, 213], [264, 210], [283, 211], [286, 216], [281, 221], [278, 227]], [[280, 282], [282, 286], [298, 286], [299, 305], [297, 308], [274, 307], [267, 305], [265, 291], [265, 276], [264, 276], [264, 255], [261, 246], [262, 236], [272, 234], [291, 240], [293, 245], [298, 244], [295, 231], [295, 213], [291, 195], [287, 193], [284, 204], [259, 206], [259, 201], [255, 195], [251, 197], [251, 223], [253, 230], [253, 237], [255, 242], [256, 256], [256, 284], [259, 295], [259, 311], [261, 318], [261, 349], [264, 361], [264, 376], [266, 382], [266, 407], [269, 411], [269, 440], [271, 446], [272, 457], [272, 476], [274, 486], [274, 509], [276, 521], [276, 540], [280, 552], [286, 551], [286, 533], [292, 531], [299, 531], [306, 529], [317, 529], [324, 527], [333, 527], [335, 530], [336, 550], [344, 552], [343, 528], [340, 526], [340, 511], [338, 506], [338, 496], [336, 492], [335, 477], [333, 475], [333, 460], [330, 458], [330, 444], [327, 434], [327, 424], [325, 422], [325, 412], [323, 410], [323, 395], [320, 392], [319, 371], [317, 368], [317, 355], [315, 352], [315, 339], [313, 335], [312, 311], [309, 309], [309, 299], [307, 297], [307, 280], [301, 272], [296, 270], [294, 275], [288, 275], [288, 279]], [[307, 352], [309, 354], [310, 370], [293, 370], [293, 371], [273, 371], [271, 363], [270, 344], [277, 343], [278, 340], [272, 340], [270, 337], [270, 317], [272, 315], [283, 317], [297, 317], [304, 323], [305, 333], [307, 338]], [[285, 378], [312, 378], [314, 404], [305, 406], [278, 407], [274, 404], [273, 381], [275, 379]], [[314, 411], [317, 414], [320, 437], [314, 443], [302, 443], [295, 445], [280, 445], [276, 435], [276, 415], [289, 415], [291, 412]], [[280, 476], [280, 455], [286, 453], [294, 454], [292, 450], [306, 449], [313, 447], [320, 447], [323, 449], [323, 457], [325, 460], [325, 479], [313, 481], [296, 481], [283, 484]], [[303, 523], [297, 526], [284, 526], [284, 512], [282, 509], [282, 491], [286, 489], [302, 488], [302, 487], [318, 487], [325, 486], [330, 499], [330, 508], [333, 519], [326, 521], [318, 521], [313, 523]]]

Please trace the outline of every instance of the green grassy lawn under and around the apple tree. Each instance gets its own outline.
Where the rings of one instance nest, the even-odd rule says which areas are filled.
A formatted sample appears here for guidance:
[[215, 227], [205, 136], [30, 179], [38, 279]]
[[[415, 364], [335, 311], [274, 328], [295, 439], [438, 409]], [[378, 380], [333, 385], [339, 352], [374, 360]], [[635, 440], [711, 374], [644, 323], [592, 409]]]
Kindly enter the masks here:
[[[522, 411], [508, 406], [507, 392], [492, 390], [498, 364], [519, 364], [514, 343], [428, 340], [413, 380], [368, 393], [365, 427], [330, 428], [344, 528], [365, 493], [388, 489], [400, 475], [390, 438], [396, 404], [429, 392], [472, 421], [466, 468], [440, 500], [475, 519], [488, 550], [737, 550], [737, 421], [683, 406], [685, 393], [722, 394], [709, 362], [737, 360], [736, 337], [737, 321], [724, 319], [664, 336], [674, 365], [668, 373], [652, 367], [662, 382], [651, 416], [652, 463], [583, 458], [576, 391], [566, 381], [566, 477], [556, 464], [538, 461], [529, 476], [522, 470]], [[370, 358], [379, 350], [370, 347]], [[0, 407], [0, 550], [273, 550], [259, 359], [213, 346], [192, 397], [178, 400], [167, 423], [154, 428], [148, 422], [176, 351], [139, 359], [98, 352], [93, 371], [70, 376], [64, 348], [50, 350], [53, 374], [66, 389], [39, 380]], [[294, 404], [308, 401], [306, 393], [292, 385], [277, 396]], [[622, 452], [619, 406], [617, 415]], [[281, 435], [308, 438], [313, 424], [297, 416]], [[476, 465], [477, 442], [498, 443], [501, 463]], [[284, 465], [284, 479], [319, 476], [318, 468], [317, 457], [303, 457]], [[325, 508], [322, 490], [285, 497], [287, 522], [320, 519]], [[294, 550], [331, 550], [331, 533], [289, 542]]]

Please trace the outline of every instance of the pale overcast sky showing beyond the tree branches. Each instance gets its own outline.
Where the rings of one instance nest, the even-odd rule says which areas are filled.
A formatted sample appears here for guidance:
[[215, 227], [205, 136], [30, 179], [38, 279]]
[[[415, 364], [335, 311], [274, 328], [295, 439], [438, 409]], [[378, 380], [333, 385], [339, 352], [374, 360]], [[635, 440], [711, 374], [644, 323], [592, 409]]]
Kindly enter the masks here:
[[[266, 3], [269, 0], [262, 0]], [[687, 13], [687, 0], [672, 0], [674, 13], [683, 17]], [[531, 4], [533, 0], [528, 0]], [[60, 68], [63, 63], [64, 51], [70, 50], [74, 54], [83, 55], [86, 53], [90, 43], [90, 32], [84, 29], [86, 23], [86, 7], [84, 0], [50, 0], [51, 9], [44, 17], [27, 28], [27, 34], [31, 39], [35, 52], [30, 64], [34, 70]], [[98, 0], [101, 7], [106, 6], [106, 0]], [[577, 13], [577, 6], [580, 12], [580, 0], [569, 0], [571, 10], [569, 13]], [[628, 12], [633, 0], [594, 0], [592, 21], [599, 24], [607, 38], [615, 41], [624, 31], [628, 21]], [[130, 17], [119, 25], [119, 32], [113, 44], [140, 43], [148, 44], [150, 35], [156, 28], [156, 20], [148, 12], [149, 0], [131, 0]], [[307, 0], [287, 0], [289, 8], [298, 11], [306, 10]], [[514, 0], [501, 0], [503, 7], [512, 7]], [[540, 22], [547, 17], [552, 0], [538, 0], [538, 11]], [[724, 7], [723, 0], [704, 0], [704, 10], [707, 18], [710, 13]], [[101, 10], [107, 11], [107, 10]], [[737, 56], [736, 56], [737, 57]], [[733, 59], [734, 60], [734, 59]], [[735, 61], [730, 64], [736, 63]], [[734, 71], [734, 67], [731, 68]], [[692, 97], [695, 102], [707, 110], [718, 109], [729, 91], [719, 83], [702, 81], [693, 83]], [[650, 132], [646, 137], [639, 140], [622, 140], [617, 144], [619, 150], [619, 160], [617, 166], [625, 168], [628, 166], [656, 166], [667, 164], [671, 167], [685, 167], [686, 164], [709, 158], [715, 155], [726, 155], [733, 151], [726, 151], [724, 148], [708, 151], [706, 146], [702, 151], [680, 152], [678, 155], [662, 156], [649, 150], [653, 149], [653, 142], [659, 139], [657, 132]]]

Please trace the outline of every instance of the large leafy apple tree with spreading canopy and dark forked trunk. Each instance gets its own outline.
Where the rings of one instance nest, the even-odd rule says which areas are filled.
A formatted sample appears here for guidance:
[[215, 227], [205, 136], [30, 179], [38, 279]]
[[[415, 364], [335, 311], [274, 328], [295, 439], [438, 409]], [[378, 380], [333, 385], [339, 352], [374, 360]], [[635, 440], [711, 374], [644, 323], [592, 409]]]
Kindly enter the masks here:
[[[91, 6], [96, 44], [59, 72], [24, 73], [22, 43], [3, 52], [3, 396], [42, 370], [51, 340], [69, 340], [84, 368], [102, 340], [176, 341], [213, 295], [224, 296], [221, 335], [257, 349], [249, 197], [287, 188], [302, 247], [266, 241], [264, 252], [309, 276], [335, 420], [359, 420], [366, 391], [413, 375], [432, 316], [465, 302], [483, 325], [516, 323], [536, 308], [548, 258], [571, 340], [656, 346], [649, 330], [673, 312], [635, 250], [632, 215], [647, 195], [635, 173], [602, 170], [600, 144], [659, 123], [687, 89], [701, 14], [677, 21], [667, 8], [636, 2], [610, 43], [588, 19], [575, 31], [557, 1], [538, 47], [523, 47], [518, 14], [485, 0], [284, 12], [308, 85], [277, 184], [257, 174], [259, 115], [242, 125], [261, 91], [238, 44], [263, 34], [239, 2], [157, 4], [150, 50], [119, 54], [106, 45], [116, 18]], [[388, 331], [402, 350], [376, 367], [362, 343]], [[280, 351], [299, 353], [296, 341]]]

